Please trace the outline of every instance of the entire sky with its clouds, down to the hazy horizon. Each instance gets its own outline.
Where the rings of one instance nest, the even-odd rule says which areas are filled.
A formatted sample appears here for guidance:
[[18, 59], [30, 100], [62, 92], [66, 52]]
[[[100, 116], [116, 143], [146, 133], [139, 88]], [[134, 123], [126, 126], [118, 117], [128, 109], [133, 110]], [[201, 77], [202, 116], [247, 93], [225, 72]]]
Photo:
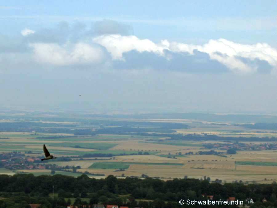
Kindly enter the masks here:
[[0, 24], [0, 108], [277, 114], [277, 1], [0, 1]]

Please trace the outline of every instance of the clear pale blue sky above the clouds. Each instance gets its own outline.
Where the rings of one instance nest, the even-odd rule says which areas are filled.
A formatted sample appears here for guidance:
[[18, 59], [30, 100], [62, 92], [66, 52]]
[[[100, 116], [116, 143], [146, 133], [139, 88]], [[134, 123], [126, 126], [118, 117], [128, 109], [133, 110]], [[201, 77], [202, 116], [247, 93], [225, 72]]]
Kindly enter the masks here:
[[276, 46], [277, 1], [2, 1], [0, 14], [0, 32], [9, 35], [60, 21], [89, 27], [95, 20], [114, 19], [154, 41], [204, 43], [224, 37]]

